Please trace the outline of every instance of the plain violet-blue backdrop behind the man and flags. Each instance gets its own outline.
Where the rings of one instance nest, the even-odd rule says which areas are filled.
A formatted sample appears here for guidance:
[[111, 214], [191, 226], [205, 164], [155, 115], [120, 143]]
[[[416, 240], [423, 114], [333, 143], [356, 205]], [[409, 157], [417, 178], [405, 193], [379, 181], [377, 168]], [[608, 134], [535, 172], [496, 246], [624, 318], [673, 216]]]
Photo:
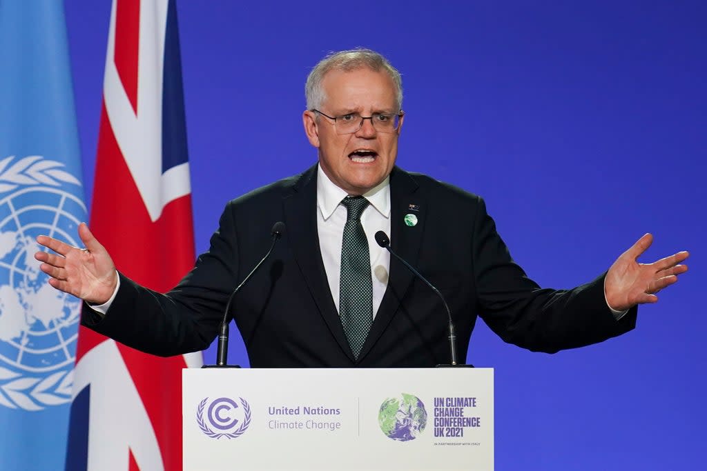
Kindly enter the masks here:
[[[317, 3], [178, 5], [197, 251], [222, 203], [315, 162], [300, 119], [315, 62], [376, 49], [404, 78], [399, 165], [484, 196], [541, 285], [594, 278], [645, 232], [645, 261], [691, 251], [621, 338], [534, 354], [477, 325], [469, 362], [496, 368], [496, 469], [699, 467], [707, 4]], [[88, 198], [109, 17], [108, 0], [66, 0]]]

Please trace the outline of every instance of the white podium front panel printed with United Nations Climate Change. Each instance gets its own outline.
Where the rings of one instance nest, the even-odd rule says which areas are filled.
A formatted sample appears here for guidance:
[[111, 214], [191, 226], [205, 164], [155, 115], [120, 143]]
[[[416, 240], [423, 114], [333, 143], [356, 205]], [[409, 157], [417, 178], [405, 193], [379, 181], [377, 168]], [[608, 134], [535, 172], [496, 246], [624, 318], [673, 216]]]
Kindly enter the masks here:
[[185, 369], [185, 471], [493, 470], [493, 369]]

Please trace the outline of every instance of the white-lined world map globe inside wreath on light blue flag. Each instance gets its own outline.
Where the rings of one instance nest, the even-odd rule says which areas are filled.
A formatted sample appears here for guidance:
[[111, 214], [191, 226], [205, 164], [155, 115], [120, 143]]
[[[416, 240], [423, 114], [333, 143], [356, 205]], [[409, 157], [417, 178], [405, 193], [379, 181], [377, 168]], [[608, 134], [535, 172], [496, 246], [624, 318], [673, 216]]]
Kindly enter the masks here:
[[85, 217], [81, 199], [59, 188], [25, 187], [0, 199], [0, 372], [41, 378], [74, 364], [81, 304], [49, 286], [35, 237], [77, 246]]

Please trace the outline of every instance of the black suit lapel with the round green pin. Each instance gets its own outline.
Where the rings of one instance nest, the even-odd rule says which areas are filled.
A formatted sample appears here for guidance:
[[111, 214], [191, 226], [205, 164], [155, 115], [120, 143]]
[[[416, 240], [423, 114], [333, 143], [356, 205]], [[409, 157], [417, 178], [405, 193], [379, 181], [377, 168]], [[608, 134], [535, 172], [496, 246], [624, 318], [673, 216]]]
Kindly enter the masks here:
[[[418, 189], [418, 184], [402, 169], [395, 167], [390, 173], [390, 246], [396, 254], [414, 267], [419, 258], [427, 205], [426, 199], [423, 199]], [[408, 225], [405, 222], [406, 215], [414, 215], [416, 223]], [[414, 220], [414, 218], [410, 219]], [[410, 270], [391, 255], [388, 286], [375, 314], [368, 338], [361, 349], [359, 362], [387, 328], [413, 279], [414, 275]]]

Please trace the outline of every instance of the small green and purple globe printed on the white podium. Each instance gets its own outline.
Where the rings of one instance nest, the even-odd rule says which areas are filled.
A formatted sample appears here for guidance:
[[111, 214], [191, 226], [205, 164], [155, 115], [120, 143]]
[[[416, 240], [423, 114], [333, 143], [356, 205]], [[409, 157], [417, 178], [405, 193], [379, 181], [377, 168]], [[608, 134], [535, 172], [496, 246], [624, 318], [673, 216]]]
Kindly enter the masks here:
[[397, 441], [414, 440], [427, 424], [425, 405], [414, 395], [402, 393], [380, 405], [378, 425], [385, 436]]

